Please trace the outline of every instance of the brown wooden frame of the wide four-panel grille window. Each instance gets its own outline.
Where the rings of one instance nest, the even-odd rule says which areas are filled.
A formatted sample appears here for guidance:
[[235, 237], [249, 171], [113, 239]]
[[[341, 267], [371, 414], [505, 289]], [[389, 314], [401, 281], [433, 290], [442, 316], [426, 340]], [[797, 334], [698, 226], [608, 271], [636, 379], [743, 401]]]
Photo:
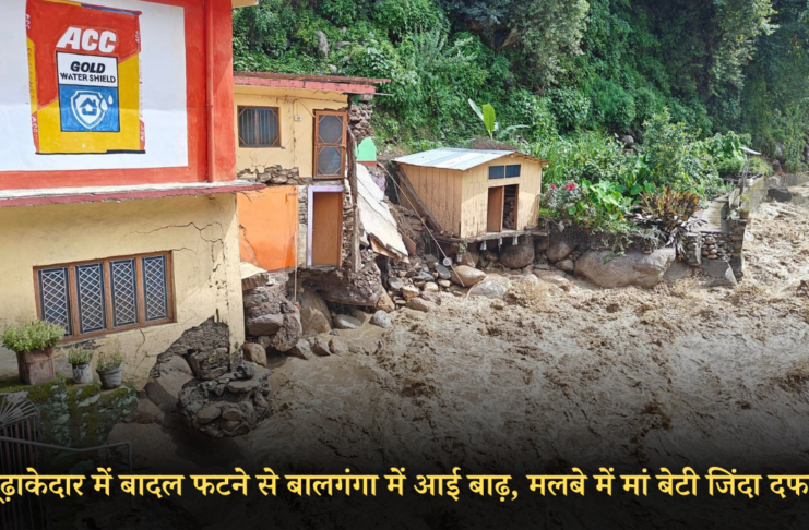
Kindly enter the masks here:
[[[143, 281], [143, 258], [163, 256], [166, 260], [166, 298], [167, 304], [166, 310], [168, 316], [157, 321], [146, 320], [146, 308], [145, 308], [145, 288]], [[115, 327], [115, 309], [112, 305], [112, 289], [111, 289], [111, 268], [110, 262], [118, 262], [123, 260], [134, 260], [135, 265], [135, 296], [138, 297], [138, 322], [135, 324], [128, 324], [120, 327]], [[91, 332], [82, 334], [81, 323], [79, 316], [79, 284], [76, 282], [75, 267], [81, 265], [92, 265], [100, 263], [104, 270], [104, 315], [105, 315], [105, 328], [97, 332]], [[120, 332], [129, 332], [132, 329], [143, 329], [146, 327], [162, 326], [165, 324], [172, 324], [177, 322], [176, 311], [176, 299], [175, 299], [175, 276], [174, 276], [174, 260], [172, 252], [150, 252], [145, 254], [130, 254], [126, 256], [112, 256], [105, 257], [102, 260], [85, 260], [81, 262], [68, 262], [58, 263], [50, 265], [43, 265], [34, 267], [34, 293], [36, 299], [36, 313], [38, 318], [43, 318], [43, 304], [41, 304], [41, 292], [39, 289], [39, 272], [48, 270], [51, 268], [67, 268], [68, 269], [68, 304], [70, 311], [70, 325], [72, 328], [72, 335], [66, 335], [61, 340], [61, 344], [75, 342], [80, 340], [86, 340], [88, 338], [100, 337]]]

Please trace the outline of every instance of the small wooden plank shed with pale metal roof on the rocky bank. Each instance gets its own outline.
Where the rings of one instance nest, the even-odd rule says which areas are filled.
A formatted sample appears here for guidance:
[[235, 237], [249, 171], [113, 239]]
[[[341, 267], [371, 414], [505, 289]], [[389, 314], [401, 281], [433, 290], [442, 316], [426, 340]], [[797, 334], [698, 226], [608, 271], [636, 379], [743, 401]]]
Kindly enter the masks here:
[[441, 148], [394, 161], [404, 190], [447, 236], [496, 239], [538, 224], [545, 160], [512, 150]]

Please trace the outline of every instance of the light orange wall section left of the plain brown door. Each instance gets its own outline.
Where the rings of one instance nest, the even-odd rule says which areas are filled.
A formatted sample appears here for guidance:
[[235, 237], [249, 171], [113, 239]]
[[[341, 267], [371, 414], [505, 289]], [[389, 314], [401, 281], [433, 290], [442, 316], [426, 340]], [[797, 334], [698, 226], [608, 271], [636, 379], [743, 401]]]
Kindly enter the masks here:
[[294, 185], [239, 193], [239, 252], [242, 262], [265, 270], [295, 267], [298, 191]]

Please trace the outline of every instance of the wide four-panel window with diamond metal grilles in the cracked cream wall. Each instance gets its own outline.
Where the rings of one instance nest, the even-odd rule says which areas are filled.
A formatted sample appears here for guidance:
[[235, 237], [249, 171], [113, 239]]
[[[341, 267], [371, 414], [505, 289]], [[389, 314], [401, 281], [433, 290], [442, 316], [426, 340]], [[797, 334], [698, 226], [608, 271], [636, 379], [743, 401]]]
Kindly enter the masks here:
[[66, 338], [174, 322], [170, 254], [53, 265], [35, 273], [39, 317], [64, 327]]

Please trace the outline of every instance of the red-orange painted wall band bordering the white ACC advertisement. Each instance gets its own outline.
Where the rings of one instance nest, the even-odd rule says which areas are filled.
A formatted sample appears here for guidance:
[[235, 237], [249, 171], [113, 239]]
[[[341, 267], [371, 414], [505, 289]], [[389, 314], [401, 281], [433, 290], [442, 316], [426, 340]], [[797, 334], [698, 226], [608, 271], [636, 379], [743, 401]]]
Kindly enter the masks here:
[[[0, 190], [36, 188], [76, 188], [168, 182], [204, 182], [236, 179], [236, 149], [233, 142], [233, 12], [231, 0], [213, 2], [211, 20], [214, 52], [213, 135], [214, 167], [207, 167], [205, 10], [203, 0], [151, 0], [179, 5], [185, 10], [186, 105], [188, 111], [188, 161], [181, 168], [0, 171]], [[92, 3], [92, 2], [91, 2]], [[144, 2], [145, 3], [145, 2]]]

